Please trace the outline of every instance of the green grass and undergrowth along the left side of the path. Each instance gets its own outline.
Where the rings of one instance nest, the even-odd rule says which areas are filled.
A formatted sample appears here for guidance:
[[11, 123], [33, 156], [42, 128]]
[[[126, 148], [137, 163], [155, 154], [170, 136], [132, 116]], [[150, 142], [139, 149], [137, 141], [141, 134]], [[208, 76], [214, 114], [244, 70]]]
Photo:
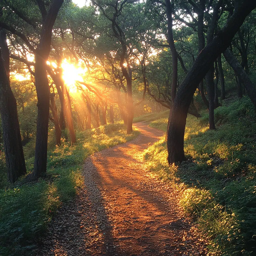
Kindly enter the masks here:
[[[0, 255], [30, 255], [36, 237], [47, 228], [57, 208], [76, 195], [83, 183], [82, 163], [90, 154], [132, 140], [122, 124], [109, 124], [77, 134], [77, 143], [48, 151], [47, 176], [39, 182], [0, 190]], [[49, 143], [50, 145], [51, 143]], [[24, 147], [28, 171], [33, 170], [34, 145]], [[0, 172], [0, 173], [3, 173]], [[5, 183], [6, 185], [6, 183]]]

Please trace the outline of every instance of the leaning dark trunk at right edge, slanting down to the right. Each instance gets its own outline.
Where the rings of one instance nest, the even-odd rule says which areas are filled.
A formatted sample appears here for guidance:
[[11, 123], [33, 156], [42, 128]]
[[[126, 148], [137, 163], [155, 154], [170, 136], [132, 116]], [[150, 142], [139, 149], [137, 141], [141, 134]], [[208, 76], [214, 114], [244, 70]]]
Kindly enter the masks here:
[[250, 77], [244, 71], [242, 66], [239, 64], [238, 60], [233, 56], [232, 52], [229, 49], [227, 49], [223, 55], [227, 62], [229, 63], [229, 65], [235, 71], [239, 80], [244, 84], [249, 98], [251, 99], [253, 105], [256, 107], [256, 90], [255, 85], [252, 83]]

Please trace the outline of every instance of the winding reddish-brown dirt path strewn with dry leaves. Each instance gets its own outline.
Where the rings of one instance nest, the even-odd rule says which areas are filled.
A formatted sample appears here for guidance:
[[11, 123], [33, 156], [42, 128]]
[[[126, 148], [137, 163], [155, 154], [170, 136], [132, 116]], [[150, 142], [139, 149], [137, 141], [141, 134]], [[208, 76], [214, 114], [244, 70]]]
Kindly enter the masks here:
[[205, 255], [177, 192], [142, 168], [140, 153], [163, 133], [136, 126], [142, 134], [135, 140], [86, 160], [84, 187], [59, 210], [34, 255]]

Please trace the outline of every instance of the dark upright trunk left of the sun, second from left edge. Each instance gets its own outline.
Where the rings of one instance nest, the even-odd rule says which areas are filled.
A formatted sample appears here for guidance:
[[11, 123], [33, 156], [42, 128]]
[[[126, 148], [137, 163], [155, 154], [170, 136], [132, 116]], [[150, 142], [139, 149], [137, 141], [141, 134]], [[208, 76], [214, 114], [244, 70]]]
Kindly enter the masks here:
[[47, 140], [49, 124], [50, 90], [46, 72], [46, 61], [51, 50], [52, 27], [63, 0], [54, 0], [43, 17], [39, 45], [35, 54], [35, 86], [37, 93], [37, 131], [33, 179], [46, 172]]

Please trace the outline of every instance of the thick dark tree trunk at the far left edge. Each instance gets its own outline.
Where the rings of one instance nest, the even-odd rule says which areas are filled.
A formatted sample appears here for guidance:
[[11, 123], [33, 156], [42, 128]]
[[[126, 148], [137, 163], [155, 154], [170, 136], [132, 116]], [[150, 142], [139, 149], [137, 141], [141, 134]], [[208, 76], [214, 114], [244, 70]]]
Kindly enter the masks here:
[[9, 50], [5, 31], [0, 32], [0, 111], [8, 181], [25, 175], [26, 165], [21, 142], [17, 103], [10, 87]]

